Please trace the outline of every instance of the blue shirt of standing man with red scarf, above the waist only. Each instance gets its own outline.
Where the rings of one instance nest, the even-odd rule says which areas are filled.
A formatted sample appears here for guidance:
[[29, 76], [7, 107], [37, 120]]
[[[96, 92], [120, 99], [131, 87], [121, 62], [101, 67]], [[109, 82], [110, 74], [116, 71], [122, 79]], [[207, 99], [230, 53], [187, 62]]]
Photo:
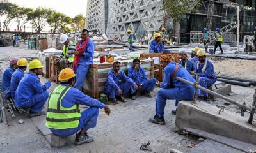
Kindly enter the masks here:
[[[80, 45], [80, 47], [82, 44]], [[79, 46], [77, 46], [79, 47]], [[93, 54], [94, 54], [94, 43], [91, 38], [86, 45], [86, 50], [84, 51], [83, 55], [81, 55], [80, 61], [78, 65], [90, 65], [93, 64]]]

